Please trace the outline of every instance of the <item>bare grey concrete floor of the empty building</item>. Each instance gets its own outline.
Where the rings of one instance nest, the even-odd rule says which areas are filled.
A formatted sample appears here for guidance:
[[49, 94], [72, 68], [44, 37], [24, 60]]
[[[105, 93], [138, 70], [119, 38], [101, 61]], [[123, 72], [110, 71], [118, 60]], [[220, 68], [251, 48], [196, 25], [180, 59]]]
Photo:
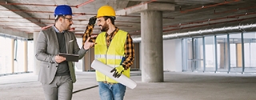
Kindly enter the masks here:
[[[127, 88], [125, 100], [256, 100], [255, 74], [210, 74], [165, 72], [165, 82], [142, 82], [132, 71], [138, 86]], [[94, 72], [78, 72], [73, 100], [99, 100]], [[34, 74], [0, 77], [0, 100], [43, 100]]]

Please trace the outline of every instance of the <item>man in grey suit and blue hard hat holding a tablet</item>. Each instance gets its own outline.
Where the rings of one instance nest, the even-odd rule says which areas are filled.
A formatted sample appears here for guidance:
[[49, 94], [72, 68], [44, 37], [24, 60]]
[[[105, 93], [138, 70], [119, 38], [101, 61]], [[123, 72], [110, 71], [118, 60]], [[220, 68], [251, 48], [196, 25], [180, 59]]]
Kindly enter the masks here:
[[58, 53], [78, 54], [81, 59], [94, 46], [88, 38], [81, 49], [78, 47], [74, 33], [67, 31], [73, 24], [72, 15], [70, 6], [57, 6], [54, 10], [54, 26], [38, 34], [35, 57], [42, 61], [38, 80], [42, 82], [46, 100], [72, 98], [73, 83], [76, 81], [74, 65]]

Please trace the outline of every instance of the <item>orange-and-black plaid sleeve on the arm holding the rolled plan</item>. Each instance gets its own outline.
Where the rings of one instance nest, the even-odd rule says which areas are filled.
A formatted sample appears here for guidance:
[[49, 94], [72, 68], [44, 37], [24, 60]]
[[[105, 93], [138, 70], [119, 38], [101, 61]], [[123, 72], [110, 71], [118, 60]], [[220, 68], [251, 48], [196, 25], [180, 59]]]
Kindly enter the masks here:
[[134, 63], [134, 43], [133, 39], [130, 37], [130, 34], [127, 34], [126, 44], [125, 44], [125, 54], [126, 59], [122, 62], [122, 66], [127, 70]]

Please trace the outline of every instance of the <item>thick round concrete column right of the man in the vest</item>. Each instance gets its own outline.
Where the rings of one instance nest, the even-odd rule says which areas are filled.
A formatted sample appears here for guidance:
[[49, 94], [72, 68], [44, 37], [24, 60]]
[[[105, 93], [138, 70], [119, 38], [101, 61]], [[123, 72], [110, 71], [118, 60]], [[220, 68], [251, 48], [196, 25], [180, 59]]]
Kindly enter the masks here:
[[162, 11], [141, 13], [142, 82], [163, 82]]

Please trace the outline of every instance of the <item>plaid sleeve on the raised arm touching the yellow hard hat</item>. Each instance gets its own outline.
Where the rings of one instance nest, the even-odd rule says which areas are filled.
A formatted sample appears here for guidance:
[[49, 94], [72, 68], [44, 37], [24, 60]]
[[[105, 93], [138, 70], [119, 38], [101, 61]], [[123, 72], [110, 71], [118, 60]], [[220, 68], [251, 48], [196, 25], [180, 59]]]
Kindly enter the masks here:
[[[91, 36], [91, 33], [94, 30], [94, 26], [86, 26], [86, 31], [84, 34], [82, 34], [82, 44], [84, 44], [86, 42], [86, 39], [89, 38]], [[96, 37], [94, 38], [90, 38], [90, 42], [95, 42]]]

